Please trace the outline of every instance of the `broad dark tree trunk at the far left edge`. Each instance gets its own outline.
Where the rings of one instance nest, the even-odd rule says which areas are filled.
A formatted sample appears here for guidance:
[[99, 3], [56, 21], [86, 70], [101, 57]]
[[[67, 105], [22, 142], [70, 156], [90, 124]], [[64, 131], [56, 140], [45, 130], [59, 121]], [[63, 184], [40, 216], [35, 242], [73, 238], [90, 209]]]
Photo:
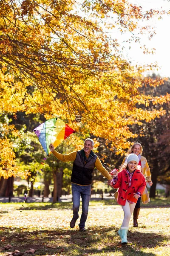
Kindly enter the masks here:
[[14, 196], [14, 177], [8, 177], [8, 179], [4, 179], [4, 177], [0, 178], [0, 196]]

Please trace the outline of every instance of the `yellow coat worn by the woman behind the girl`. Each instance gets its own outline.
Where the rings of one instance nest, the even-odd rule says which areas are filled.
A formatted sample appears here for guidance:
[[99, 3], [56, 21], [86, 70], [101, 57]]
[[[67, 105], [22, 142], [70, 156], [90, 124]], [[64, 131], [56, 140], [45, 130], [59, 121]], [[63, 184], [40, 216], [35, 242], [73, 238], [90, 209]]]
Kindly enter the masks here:
[[[125, 162], [125, 159], [123, 160], [122, 164]], [[143, 173], [143, 175], [146, 177], [146, 181], [149, 182], [149, 181], [152, 181], [151, 180], [151, 174], [150, 174], [150, 168], [149, 168], [149, 165], [147, 163], [147, 160], [145, 157], [142, 157], [141, 156], [141, 167], [142, 167], [142, 170], [141, 172]], [[114, 197], [117, 199], [117, 191], [115, 192], [114, 194]], [[143, 204], [147, 204], [150, 202], [150, 198], [149, 198], [149, 194], [147, 192], [147, 187], [145, 188], [143, 194], [142, 194], [142, 203]]]

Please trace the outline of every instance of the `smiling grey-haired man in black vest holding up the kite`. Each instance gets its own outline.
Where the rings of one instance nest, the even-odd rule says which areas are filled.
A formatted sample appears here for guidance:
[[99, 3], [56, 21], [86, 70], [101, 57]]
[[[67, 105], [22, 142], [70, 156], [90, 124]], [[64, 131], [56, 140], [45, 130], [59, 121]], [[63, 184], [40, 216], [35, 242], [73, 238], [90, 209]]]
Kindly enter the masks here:
[[70, 222], [70, 227], [74, 228], [77, 219], [79, 218], [80, 195], [82, 198], [82, 215], [79, 223], [79, 231], [85, 230], [85, 221], [88, 216], [88, 206], [91, 196], [92, 173], [94, 168], [99, 170], [103, 176], [108, 179], [108, 185], [112, 181], [111, 175], [102, 166], [99, 157], [92, 151], [94, 141], [86, 139], [84, 148], [79, 151], [71, 152], [70, 154], [60, 154], [55, 151], [54, 146], [50, 144], [50, 150], [62, 162], [74, 161], [71, 175], [71, 187], [73, 195], [73, 218]]

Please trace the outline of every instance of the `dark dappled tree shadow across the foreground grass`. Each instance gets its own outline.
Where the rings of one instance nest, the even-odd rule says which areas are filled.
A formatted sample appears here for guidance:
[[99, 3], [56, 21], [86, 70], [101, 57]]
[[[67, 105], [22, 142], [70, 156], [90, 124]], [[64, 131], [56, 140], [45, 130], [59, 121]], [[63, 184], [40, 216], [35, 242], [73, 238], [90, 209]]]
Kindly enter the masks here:
[[[34, 248], [35, 255], [64, 254], [65, 256], [82, 256], [85, 253], [101, 256], [112, 252], [121, 252], [123, 256], [154, 256], [154, 253], [144, 253], [142, 249], [160, 246], [162, 241], [168, 240], [167, 236], [159, 236], [156, 233], [129, 232], [129, 243], [122, 246], [117, 228], [114, 226], [89, 228], [86, 232], [0, 227], [0, 238], [0, 247], [11, 244], [12, 247], [8, 249], [11, 252], [20, 250], [24, 253]], [[5, 252], [3, 251], [2, 255], [5, 255]]]

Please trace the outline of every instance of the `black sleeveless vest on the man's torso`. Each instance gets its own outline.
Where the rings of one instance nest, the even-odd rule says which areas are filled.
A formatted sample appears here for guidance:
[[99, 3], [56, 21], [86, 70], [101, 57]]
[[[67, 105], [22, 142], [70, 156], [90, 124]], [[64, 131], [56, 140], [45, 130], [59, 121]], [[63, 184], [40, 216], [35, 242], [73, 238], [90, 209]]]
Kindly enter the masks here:
[[95, 167], [97, 156], [91, 151], [88, 162], [85, 162], [82, 150], [77, 151], [77, 156], [73, 163], [71, 182], [79, 185], [90, 185], [92, 183], [92, 172]]

